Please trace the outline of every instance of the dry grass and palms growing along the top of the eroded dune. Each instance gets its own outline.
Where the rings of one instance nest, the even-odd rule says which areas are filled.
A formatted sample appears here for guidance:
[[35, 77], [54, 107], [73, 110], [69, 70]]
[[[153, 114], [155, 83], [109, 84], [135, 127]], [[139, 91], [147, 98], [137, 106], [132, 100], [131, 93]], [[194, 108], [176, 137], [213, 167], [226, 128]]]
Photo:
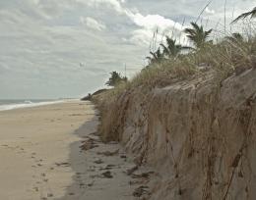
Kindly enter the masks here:
[[[252, 11], [255, 12], [255, 9]], [[249, 16], [241, 15], [235, 21]], [[255, 14], [250, 12], [253, 18]], [[215, 30], [216, 31], [216, 30]], [[182, 46], [177, 39], [165, 36], [156, 51], [151, 51], [146, 59], [149, 64], [141, 73], [128, 81], [119, 81], [114, 89], [104, 93], [106, 99], [142, 86], [145, 89], [163, 87], [175, 81], [193, 78], [211, 72], [217, 83], [229, 75], [239, 75], [256, 66], [256, 34], [253, 25], [244, 32], [232, 32], [219, 38], [213, 36], [213, 29], [191, 23], [183, 32], [193, 44]], [[154, 41], [154, 38], [153, 38]], [[102, 97], [102, 96], [101, 96]]]

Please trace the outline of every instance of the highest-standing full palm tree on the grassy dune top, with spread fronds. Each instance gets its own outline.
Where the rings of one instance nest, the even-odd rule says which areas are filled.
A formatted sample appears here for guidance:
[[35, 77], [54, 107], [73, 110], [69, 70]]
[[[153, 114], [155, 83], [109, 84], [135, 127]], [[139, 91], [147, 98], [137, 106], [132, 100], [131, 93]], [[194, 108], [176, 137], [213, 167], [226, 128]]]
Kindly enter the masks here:
[[187, 33], [187, 37], [194, 43], [196, 49], [201, 49], [207, 44], [207, 38], [210, 36], [213, 29], [204, 30], [203, 25], [197, 25], [191, 23], [192, 28], [185, 28], [184, 32]]

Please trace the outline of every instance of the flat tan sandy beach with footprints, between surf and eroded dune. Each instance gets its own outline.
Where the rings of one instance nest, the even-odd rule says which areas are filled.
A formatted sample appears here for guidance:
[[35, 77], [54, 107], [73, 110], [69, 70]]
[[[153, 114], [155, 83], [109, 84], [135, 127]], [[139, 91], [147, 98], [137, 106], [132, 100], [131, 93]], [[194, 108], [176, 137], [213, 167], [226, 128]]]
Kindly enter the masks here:
[[[98, 141], [96, 125], [89, 102], [0, 112], [0, 200], [133, 199], [138, 185], [123, 173], [133, 163]], [[81, 150], [89, 140], [96, 148]]]

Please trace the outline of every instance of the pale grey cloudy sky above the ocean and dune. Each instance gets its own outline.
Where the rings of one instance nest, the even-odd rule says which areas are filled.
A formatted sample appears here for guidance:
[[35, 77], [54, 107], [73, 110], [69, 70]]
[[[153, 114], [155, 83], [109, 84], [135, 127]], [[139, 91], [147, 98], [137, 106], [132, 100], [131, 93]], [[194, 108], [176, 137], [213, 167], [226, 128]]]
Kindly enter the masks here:
[[[109, 73], [146, 65], [154, 30], [188, 43], [182, 29], [209, 0], [0, 0], [0, 99], [82, 97]], [[256, 6], [226, 0], [226, 24]], [[199, 22], [224, 29], [224, 0]], [[229, 28], [229, 27], [228, 27]]]

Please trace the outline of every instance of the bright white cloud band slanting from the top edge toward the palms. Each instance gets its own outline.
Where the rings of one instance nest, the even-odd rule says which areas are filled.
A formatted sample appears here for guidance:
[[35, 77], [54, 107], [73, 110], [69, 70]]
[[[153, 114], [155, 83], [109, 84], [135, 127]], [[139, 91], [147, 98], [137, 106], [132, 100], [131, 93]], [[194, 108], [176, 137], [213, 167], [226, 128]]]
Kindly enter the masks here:
[[[154, 35], [156, 27], [158, 27], [159, 33], [163, 34], [173, 32], [175, 34], [180, 33], [182, 25], [175, 23], [174, 21], [164, 18], [160, 15], [142, 15], [137, 9], [129, 9], [124, 5], [124, 0], [76, 0], [77, 2], [86, 4], [87, 6], [98, 8], [104, 6], [104, 8], [113, 10], [119, 15], [126, 16], [134, 25], [138, 27], [130, 32], [130, 38], [127, 41], [140, 46], [148, 46]], [[85, 19], [82, 19], [85, 21]], [[90, 25], [96, 25], [96, 22], [89, 22]], [[90, 26], [88, 25], [88, 26]], [[96, 28], [99, 29], [99, 28]], [[101, 28], [100, 28], [101, 29]]]

